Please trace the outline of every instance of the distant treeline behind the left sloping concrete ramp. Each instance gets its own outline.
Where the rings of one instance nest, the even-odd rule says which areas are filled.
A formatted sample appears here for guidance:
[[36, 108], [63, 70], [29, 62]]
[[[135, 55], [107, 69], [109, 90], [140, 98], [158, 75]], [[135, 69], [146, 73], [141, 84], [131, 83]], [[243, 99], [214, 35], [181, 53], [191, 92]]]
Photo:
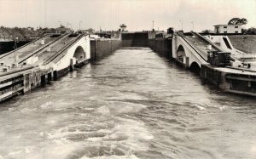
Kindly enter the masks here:
[[41, 37], [44, 33], [57, 32], [57, 31], [71, 31], [65, 26], [58, 28], [41, 28], [38, 27], [34, 29], [32, 27], [4, 27], [0, 26], [0, 40], [14, 40], [16, 37], [19, 38], [19, 41], [31, 40], [33, 38]]

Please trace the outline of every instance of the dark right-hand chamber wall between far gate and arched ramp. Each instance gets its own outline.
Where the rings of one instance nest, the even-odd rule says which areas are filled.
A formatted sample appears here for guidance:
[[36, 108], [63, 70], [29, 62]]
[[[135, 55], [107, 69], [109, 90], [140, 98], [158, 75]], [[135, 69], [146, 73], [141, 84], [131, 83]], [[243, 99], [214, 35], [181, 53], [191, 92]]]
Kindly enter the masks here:
[[148, 39], [148, 47], [168, 59], [172, 58], [172, 39], [165, 37]]

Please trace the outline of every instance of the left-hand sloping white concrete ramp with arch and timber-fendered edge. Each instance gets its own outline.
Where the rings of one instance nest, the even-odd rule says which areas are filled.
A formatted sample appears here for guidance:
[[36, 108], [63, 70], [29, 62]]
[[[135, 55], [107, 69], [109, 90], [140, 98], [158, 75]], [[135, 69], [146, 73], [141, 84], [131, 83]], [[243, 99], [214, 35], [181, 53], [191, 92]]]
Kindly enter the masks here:
[[[18, 66], [14, 65], [17, 54]], [[0, 101], [24, 94], [90, 60], [86, 34], [49, 34], [0, 56]], [[5, 69], [7, 68], [7, 69]]]

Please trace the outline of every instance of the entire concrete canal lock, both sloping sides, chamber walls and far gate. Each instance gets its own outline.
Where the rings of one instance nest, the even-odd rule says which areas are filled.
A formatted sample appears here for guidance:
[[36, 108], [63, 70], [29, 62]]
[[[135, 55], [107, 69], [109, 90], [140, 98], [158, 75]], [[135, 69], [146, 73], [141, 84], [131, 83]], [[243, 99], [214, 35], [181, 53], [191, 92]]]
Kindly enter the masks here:
[[[252, 69], [208, 64], [208, 51], [216, 54], [227, 50], [236, 51], [225, 36], [203, 37], [193, 31], [177, 31], [168, 38], [148, 39], [148, 31], [142, 31], [124, 32], [120, 41], [65, 33], [45, 35], [0, 56], [0, 101], [39, 86], [44, 87], [46, 83], [57, 80], [68, 71], [87, 64], [89, 60], [99, 60], [120, 47], [148, 46], [167, 58], [177, 60], [185, 68], [201, 71], [203, 79], [224, 91], [256, 94], [256, 73]], [[18, 66], [14, 64], [15, 56]]]

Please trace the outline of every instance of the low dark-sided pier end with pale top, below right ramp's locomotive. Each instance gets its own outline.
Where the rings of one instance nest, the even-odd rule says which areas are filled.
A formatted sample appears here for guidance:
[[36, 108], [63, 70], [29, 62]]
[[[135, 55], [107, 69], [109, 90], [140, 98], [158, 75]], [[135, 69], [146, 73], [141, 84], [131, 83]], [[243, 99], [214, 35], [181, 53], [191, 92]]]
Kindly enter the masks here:
[[201, 65], [201, 78], [224, 92], [256, 96], [256, 71]]

